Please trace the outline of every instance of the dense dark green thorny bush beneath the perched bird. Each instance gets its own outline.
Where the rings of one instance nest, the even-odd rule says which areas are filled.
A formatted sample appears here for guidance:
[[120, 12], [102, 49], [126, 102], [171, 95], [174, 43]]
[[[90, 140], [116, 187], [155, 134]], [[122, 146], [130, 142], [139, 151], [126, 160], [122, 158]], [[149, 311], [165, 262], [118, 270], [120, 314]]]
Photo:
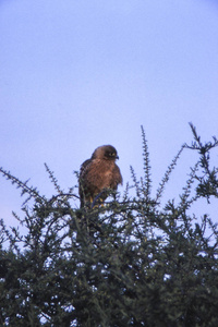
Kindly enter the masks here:
[[[204, 213], [190, 214], [201, 198], [218, 197], [218, 169], [209, 161], [218, 142], [203, 144], [191, 129], [194, 142], [181, 147], [154, 198], [143, 128], [144, 177], [131, 168], [133, 185], [104, 207], [77, 209], [74, 189], [63, 192], [48, 166], [51, 198], [0, 169], [27, 195], [24, 218], [14, 214], [27, 232], [0, 225], [1, 326], [218, 326], [217, 226]], [[199, 159], [179, 204], [160, 203], [190, 149]]]

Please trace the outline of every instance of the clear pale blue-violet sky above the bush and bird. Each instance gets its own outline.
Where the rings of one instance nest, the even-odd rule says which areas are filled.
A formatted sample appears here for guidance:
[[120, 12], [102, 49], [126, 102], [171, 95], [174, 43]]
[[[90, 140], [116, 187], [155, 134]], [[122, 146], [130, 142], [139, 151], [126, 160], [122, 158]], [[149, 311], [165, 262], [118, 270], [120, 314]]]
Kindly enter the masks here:
[[[193, 141], [189, 122], [218, 137], [217, 104], [217, 0], [0, 0], [0, 167], [43, 194], [55, 193], [44, 162], [66, 191], [104, 144], [120, 156], [122, 193], [130, 166], [143, 175], [141, 125], [155, 194]], [[196, 160], [184, 152], [168, 198]], [[0, 218], [16, 226], [23, 199], [2, 177], [0, 198]]]

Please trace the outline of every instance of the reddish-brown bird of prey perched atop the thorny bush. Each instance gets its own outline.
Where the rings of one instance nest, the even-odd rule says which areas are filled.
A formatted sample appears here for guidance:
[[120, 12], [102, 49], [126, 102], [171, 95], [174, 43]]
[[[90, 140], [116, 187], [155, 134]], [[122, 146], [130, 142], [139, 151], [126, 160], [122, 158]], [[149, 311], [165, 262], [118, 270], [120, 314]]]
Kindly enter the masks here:
[[109, 190], [116, 191], [118, 184], [122, 184], [116, 159], [119, 159], [117, 149], [112, 145], [102, 145], [95, 149], [90, 159], [82, 164], [78, 184], [81, 207], [102, 203]]

